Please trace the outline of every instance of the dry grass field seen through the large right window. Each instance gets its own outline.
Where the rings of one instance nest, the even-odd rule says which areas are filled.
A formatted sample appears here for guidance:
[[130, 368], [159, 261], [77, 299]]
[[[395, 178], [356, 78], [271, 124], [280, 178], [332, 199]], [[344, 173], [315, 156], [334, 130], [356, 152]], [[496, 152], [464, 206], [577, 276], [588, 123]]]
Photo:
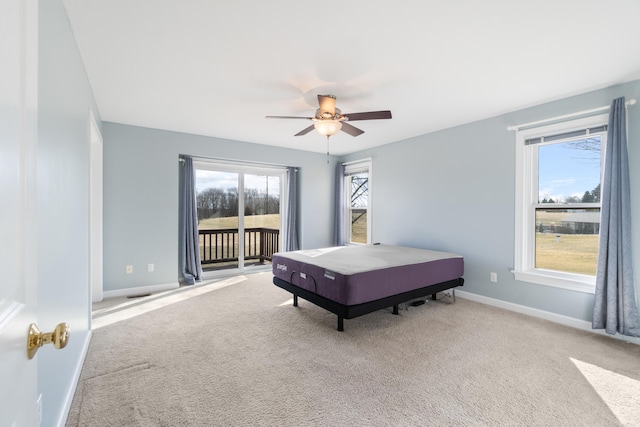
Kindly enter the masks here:
[[536, 268], [595, 276], [598, 234], [568, 233], [569, 226], [562, 221], [575, 211], [536, 212], [536, 230], [544, 230], [536, 232]]

